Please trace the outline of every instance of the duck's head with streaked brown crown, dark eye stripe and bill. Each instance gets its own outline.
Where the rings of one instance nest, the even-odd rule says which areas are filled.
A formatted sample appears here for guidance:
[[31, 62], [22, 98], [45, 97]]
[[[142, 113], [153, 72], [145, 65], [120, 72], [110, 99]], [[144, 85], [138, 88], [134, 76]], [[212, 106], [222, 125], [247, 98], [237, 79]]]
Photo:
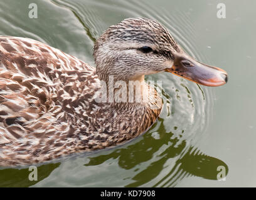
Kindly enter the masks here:
[[157, 21], [128, 18], [110, 26], [93, 49], [97, 74], [107, 81], [144, 80], [144, 75], [166, 71], [205, 86], [227, 83], [227, 73], [186, 54]]

